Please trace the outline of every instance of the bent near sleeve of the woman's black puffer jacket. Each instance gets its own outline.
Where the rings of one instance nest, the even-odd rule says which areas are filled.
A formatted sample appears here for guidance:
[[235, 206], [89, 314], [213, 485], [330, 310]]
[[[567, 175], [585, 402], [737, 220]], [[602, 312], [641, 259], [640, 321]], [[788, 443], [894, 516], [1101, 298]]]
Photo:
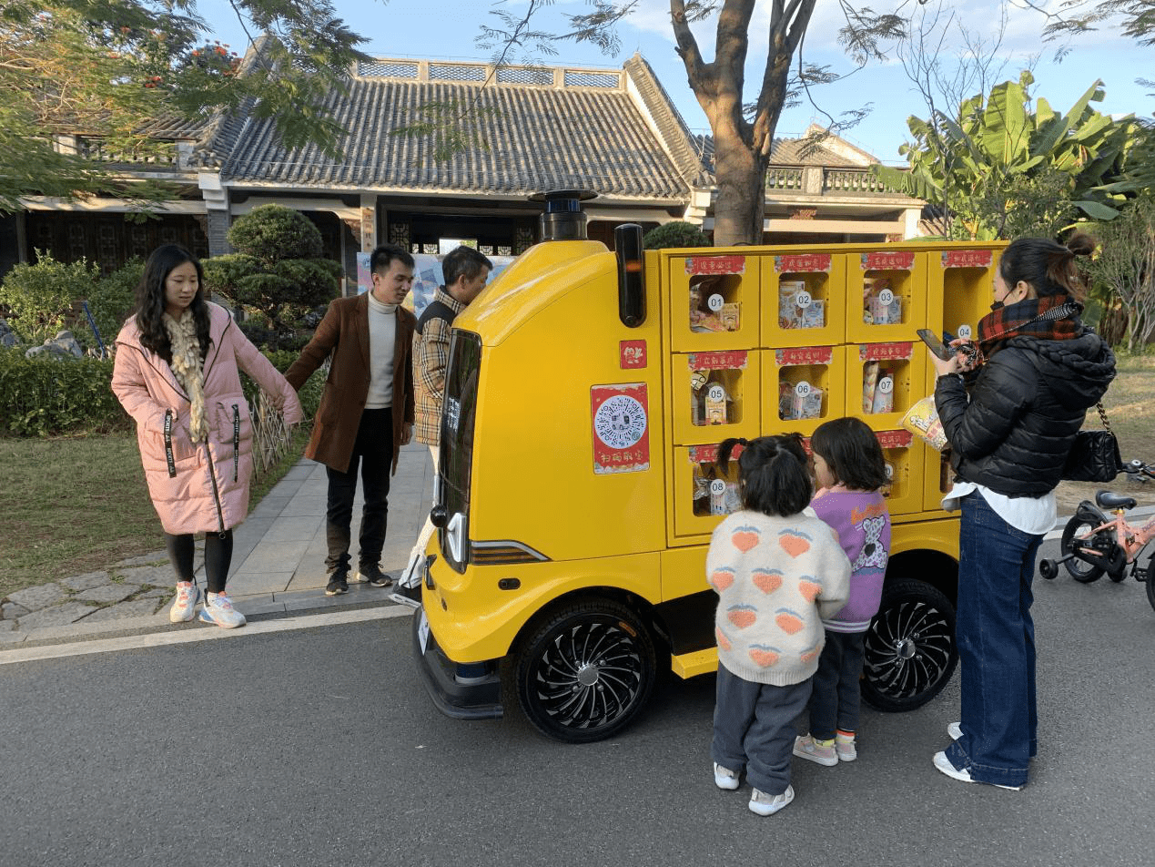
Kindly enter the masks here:
[[952, 451], [968, 460], [991, 454], [1009, 436], [1031, 403], [1035, 370], [1014, 363], [1004, 350], [975, 380], [970, 399], [962, 379], [942, 376], [934, 385], [934, 406]]

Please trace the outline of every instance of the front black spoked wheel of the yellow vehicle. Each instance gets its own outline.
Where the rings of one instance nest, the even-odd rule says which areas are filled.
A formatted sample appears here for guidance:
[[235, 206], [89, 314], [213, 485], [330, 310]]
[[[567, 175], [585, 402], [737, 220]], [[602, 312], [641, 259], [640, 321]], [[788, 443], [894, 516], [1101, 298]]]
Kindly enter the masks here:
[[638, 615], [584, 601], [549, 616], [516, 651], [517, 702], [544, 734], [589, 743], [628, 726], [654, 690], [657, 655]]

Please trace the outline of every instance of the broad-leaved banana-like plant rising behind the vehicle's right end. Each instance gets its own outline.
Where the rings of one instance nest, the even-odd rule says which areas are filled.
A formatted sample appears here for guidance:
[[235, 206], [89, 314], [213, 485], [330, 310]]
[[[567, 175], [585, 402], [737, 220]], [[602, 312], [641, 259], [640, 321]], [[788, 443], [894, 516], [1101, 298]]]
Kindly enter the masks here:
[[1065, 114], [1045, 99], [1031, 106], [1034, 77], [1023, 72], [990, 95], [964, 101], [949, 117], [909, 118], [914, 143], [900, 153], [909, 171], [871, 166], [886, 184], [940, 206], [951, 238], [1053, 235], [1083, 216], [1111, 220], [1138, 185], [1124, 176], [1139, 125], [1090, 108], [1102, 82]]

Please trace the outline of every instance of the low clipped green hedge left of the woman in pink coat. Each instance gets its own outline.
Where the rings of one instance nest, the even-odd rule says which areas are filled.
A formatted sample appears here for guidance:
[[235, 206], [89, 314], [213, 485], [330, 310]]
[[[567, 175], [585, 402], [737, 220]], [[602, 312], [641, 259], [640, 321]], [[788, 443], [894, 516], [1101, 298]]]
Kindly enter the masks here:
[[111, 360], [25, 358], [20, 349], [0, 350], [0, 436], [127, 429], [111, 381]]

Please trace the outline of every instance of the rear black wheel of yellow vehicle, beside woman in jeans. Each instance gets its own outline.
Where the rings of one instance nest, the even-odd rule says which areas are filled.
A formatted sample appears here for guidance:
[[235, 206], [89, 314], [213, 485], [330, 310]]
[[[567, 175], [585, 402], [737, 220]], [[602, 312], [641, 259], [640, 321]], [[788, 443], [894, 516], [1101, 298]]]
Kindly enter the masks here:
[[912, 578], [891, 581], [866, 630], [862, 696], [880, 711], [912, 711], [937, 696], [954, 674], [954, 606], [941, 591]]

